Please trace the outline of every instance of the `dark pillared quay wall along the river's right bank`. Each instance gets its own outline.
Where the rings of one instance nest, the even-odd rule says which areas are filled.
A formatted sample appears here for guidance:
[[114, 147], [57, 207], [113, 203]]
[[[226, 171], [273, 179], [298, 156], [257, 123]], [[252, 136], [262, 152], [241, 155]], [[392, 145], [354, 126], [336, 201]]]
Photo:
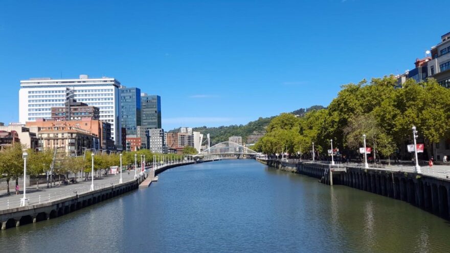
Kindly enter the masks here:
[[376, 168], [365, 169], [356, 166], [346, 166], [335, 170], [326, 164], [258, 160], [283, 171], [319, 178], [327, 185], [345, 185], [406, 201], [450, 220], [450, 180], [446, 178]]

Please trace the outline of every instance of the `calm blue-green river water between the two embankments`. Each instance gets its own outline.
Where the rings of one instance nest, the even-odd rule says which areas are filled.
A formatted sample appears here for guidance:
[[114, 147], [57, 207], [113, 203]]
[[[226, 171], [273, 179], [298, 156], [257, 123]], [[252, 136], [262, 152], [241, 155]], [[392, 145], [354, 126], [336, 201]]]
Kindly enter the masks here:
[[221, 160], [0, 232], [0, 252], [450, 252], [450, 223], [414, 206]]

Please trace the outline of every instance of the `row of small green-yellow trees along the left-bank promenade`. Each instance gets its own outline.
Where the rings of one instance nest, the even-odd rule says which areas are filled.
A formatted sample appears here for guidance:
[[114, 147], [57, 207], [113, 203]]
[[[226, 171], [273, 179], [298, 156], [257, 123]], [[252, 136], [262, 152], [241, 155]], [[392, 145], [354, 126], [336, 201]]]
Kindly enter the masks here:
[[[81, 177], [84, 174], [84, 180], [88, 180], [92, 176], [92, 151], [90, 150], [85, 150], [83, 156], [64, 156], [64, 153], [62, 153], [62, 156], [58, 155], [54, 159], [54, 150], [35, 151], [26, 149], [20, 143], [15, 143], [0, 150], [0, 178], [6, 179], [8, 194], [11, 191], [10, 183], [13, 186], [17, 186], [19, 177], [24, 175], [24, 158], [22, 157], [24, 151], [28, 154], [27, 175], [37, 178], [37, 187], [39, 187], [39, 176], [42, 175], [48, 175], [46, 180], [47, 187], [51, 187], [52, 183], [55, 184], [55, 181], [60, 181], [61, 175], [68, 178], [69, 175], [75, 174]], [[146, 164], [151, 165], [153, 159], [156, 163], [176, 161], [183, 159], [184, 155], [189, 155], [192, 152], [191, 149], [184, 150], [183, 155], [153, 154], [147, 149], [123, 152], [122, 165], [124, 169], [134, 169], [135, 157], [139, 168], [141, 159], [144, 156]], [[102, 171], [108, 170], [112, 166], [120, 167], [120, 153], [94, 153], [94, 173], [97, 176], [101, 176]]]

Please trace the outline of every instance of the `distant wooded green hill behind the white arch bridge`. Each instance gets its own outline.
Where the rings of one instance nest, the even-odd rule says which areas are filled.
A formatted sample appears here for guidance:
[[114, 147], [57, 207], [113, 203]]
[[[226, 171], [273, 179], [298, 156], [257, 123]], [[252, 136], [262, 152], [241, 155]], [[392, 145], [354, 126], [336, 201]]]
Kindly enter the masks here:
[[[325, 107], [321, 105], [314, 105], [309, 108], [300, 108], [298, 110], [292, 111], [290, 113], [297, 115], [298, 117], [303, 117], [306, 112], [310, 110], [319, 110]], [[198, 131], [203, 134], [209, 133], [211, 136], [211, 146], [220, 142], [228, 141], [228, 138], [234, 135], [242, 136], [243, 143], [255, 143], [266, 133], [266, 128], [271, 122], [273, 117], [259, 118], [256, 121], [249, 122], [245, 125], [230, 125], [230, 126], [219, 126], [219, 127], [194, 127], [193, 131]], [[178, 132], [179, 128], [170, 130], [169, 132]], [[204, 136], [204, 140], [206, 136]]]

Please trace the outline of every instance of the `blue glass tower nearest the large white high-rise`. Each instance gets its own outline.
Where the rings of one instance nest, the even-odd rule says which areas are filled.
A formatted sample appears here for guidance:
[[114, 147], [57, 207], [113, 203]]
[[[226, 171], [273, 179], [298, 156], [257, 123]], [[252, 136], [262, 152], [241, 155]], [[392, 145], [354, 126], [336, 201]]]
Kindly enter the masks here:
[[122, 127], [127, 137], [136, 137], [141, 125], [141, 89], [122, 86], [119, 90]]

